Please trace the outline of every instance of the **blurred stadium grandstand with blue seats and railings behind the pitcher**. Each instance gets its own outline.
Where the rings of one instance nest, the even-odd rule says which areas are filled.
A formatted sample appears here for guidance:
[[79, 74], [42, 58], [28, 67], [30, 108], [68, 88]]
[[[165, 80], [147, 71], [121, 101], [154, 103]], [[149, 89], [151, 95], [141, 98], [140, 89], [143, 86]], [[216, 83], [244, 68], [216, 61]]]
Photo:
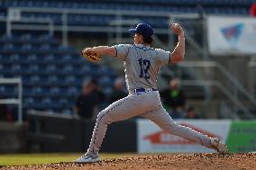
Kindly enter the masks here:
[[[114, 78], [122, 74], [120, 63], [105, 59], [105, 67], [80, 58], [81, 47], [130, 42], [127, 29], [137, 22], [148, 22], [157, 34], [155, 47], [172, 49], [175, 38], [168, 22], [178, 21], [186, 28], [190, 62], [165, 67], [160, 73], [160, 88], [170, 77], [179, 76], [189, 103], [196, 105], [203, 117], [255, 117], [256, 85], [243, 84], [255, 76], [241, 82], [241, 76], [228, 69], [232, 65], [228, 58], [221, 60], [209, 54], [204, 24], [210, 14], [248, 16], [252, 2], [0, 0], [0, 77], [22, 77], [23, 112], [33, 109], [72, 114], [73, 99], [85, 77], [96, 77], [107, 95]], [[241, 67], [239, 59], [236, 67]], [[250, 70], [254, 69], [254, 60], [244, 58], [242, 63], [251, 63]], [[14, 85], [0, 86], [2, 98], [12, 98], [16, 91]]]

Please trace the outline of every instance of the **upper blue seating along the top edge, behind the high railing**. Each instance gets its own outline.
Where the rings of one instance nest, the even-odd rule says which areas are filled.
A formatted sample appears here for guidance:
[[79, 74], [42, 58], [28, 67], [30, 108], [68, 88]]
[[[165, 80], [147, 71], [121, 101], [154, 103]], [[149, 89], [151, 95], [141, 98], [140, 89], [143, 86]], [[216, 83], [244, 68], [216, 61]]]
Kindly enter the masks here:
[[[242, 14], [248, 15], [253, 0], [96, 0], [96, 1], [66, 1], [66, 0], [0, 0], [0, 16], [7, 15], [8, 7], [41, 7], [56, 9], [84, 9], [84, 10], [114, 10], [114, 11], [141, 11], [141, 12], [166, 12], [166, 13], [211, 13], [211, 14]], [[199, 7], [201, 5], [201, 7]], [[22, 17], [37, 19], [50, 18], [54, 24], [62, 23], [61, 13], [35, 13], [23, 12]], [[104, 26], [115, 19], [110, 14], [79, 14], [69, 13], [69, 25], [91, 25]], [[142, 22], [149, 22], [153, 27], [166, 27], [168, 16], [143, 17], [123, 16], [123, 19], [139, 19]]]

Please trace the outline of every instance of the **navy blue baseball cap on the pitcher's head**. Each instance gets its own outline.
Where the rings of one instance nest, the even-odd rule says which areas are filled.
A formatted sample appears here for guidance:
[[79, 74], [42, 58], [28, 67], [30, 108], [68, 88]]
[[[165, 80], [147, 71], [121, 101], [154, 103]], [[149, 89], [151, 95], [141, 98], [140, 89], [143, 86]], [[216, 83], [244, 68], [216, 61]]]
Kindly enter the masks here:
[[129, 32], [131, 34], [135, 34], [135, 33], [139, 33], [141, 34], [143, 37], [152, 37], [152, 35], [154, 34], [153, 29], [151, 28], [151, 25], [148, 25], [146, 23], [139, 23], [136, 28], [134, 29], [130, 29]]

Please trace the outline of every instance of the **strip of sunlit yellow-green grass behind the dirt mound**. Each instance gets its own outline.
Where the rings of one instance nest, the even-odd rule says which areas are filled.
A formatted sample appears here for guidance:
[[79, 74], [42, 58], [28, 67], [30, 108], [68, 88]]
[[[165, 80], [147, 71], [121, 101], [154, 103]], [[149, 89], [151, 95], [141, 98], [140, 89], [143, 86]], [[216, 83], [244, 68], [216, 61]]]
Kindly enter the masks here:
[[[7, 154], [0, 155], [0, 166], [20, 166], [70, 162], [82, 154]], [[100, 154], [102, 159], [134, 157], [137, 154]]]

